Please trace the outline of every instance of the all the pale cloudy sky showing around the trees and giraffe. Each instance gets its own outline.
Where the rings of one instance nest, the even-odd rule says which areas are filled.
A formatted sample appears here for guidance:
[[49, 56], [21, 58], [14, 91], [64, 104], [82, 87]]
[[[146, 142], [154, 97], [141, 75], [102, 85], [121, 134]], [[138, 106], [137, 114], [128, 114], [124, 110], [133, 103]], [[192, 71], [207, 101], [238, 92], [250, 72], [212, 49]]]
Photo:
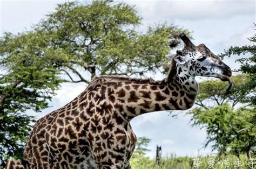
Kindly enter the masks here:
[[[57, 3], [65, 1], [3, 1], [0, 0], [0, 35], [5, 32], [29, 30], [45, 15], [54, 10]], [[86, 2], [86, 1], [82, 1]], [[136, 5], [143, 17], [145, 31], [154, 23], [174, 24], [192, 31], [194, 44], [204, 43], [210, 50], [219, 54], [232, 45], [245, 45], [247, 38], [254, 34], [255, 1], [125, 1]], [[252, 45], [252, 44], [251, 44]], [[236, 58], [226, 58], [224, 62], [232, 69], [239, 67]], [[164, 76], [151, 75], [159, 80]], [[198, 78], [200, 79], [200, 78]], [[48, 114], [70, 102], [85, 89], [83, 83], [65, 83], [50, 102], [51, 108], [35, 114], [37, 118]], [[177, 156], [197, 156], [198, 153], [211, 153], [210, 147], [201, 149], [206, 138], [205, 130], [191, 128], [190, 116], [181, 113], [177, 118], [168, 116], [169, 112], [151, 112], [131, 121], [137, 137], [151, 138], [149, 157], [154, 157], [156, 145], [161, 145], [163, 156], [176, 153]]]

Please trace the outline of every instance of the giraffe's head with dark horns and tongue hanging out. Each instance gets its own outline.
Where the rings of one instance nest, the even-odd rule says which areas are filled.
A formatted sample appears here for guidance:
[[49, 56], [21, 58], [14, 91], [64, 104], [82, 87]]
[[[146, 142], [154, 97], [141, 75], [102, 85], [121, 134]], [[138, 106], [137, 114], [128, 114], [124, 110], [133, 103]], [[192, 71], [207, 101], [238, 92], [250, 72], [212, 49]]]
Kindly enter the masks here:
[[229, 90], [232, 85], [230, 80], [231, 68], [224, 64], [204, 44], [194, 45], [184, 33], [179, 36], [185, 44], [183, 50], [178, 50], [176, 54], [167, 56], [167, 58], [176, 62], [178, 74], [219, 78], [222, 81], [229, 82], [227, 89]]

